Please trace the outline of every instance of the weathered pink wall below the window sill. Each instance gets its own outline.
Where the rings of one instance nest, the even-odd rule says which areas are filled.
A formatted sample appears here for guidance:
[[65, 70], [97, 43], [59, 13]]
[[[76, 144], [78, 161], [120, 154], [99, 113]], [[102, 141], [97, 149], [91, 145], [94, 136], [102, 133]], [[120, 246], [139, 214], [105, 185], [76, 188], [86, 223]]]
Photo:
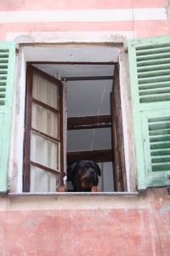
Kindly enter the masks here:
[[127, 197], [8, 196], [1, 199], [0, 252], [168, 256], [167, 202], [167, 189]]

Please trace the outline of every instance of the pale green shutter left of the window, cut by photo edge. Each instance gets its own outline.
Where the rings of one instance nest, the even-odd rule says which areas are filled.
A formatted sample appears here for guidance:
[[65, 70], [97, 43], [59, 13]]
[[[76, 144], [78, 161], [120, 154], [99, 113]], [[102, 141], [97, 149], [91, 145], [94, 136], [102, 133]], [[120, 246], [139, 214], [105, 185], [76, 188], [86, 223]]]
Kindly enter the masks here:
[[7, 191], [8, 154], [14, 90], [14, 42], [0, 42], [0, 192]]

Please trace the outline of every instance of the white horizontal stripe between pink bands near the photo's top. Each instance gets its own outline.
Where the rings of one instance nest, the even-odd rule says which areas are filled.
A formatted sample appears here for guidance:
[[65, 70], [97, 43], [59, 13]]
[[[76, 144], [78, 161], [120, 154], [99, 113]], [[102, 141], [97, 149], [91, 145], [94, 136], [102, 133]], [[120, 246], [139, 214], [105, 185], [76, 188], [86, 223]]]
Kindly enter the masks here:
[[91, 9], [47, 11], [1, 11], [0, 23], [57, 21], [167, 20], [166, 9]]

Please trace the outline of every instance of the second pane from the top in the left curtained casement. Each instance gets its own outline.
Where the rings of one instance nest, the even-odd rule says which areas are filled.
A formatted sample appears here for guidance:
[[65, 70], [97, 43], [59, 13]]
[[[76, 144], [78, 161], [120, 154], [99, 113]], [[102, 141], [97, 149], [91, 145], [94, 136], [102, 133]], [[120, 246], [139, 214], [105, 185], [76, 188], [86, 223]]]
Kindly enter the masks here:
[[58, 120], [59, 115], [57, 113], [32, 103], [32, 128], [42, 131], [48, 136], [59, 138]]

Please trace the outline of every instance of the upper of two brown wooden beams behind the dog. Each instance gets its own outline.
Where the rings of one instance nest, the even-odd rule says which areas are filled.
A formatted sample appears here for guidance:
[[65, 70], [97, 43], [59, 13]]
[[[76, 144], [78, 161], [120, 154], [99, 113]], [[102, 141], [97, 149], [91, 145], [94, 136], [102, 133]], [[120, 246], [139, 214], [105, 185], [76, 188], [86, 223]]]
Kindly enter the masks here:
[[67, 130], [111, 127], [111, 115], [71, 117], [67, 119]]

